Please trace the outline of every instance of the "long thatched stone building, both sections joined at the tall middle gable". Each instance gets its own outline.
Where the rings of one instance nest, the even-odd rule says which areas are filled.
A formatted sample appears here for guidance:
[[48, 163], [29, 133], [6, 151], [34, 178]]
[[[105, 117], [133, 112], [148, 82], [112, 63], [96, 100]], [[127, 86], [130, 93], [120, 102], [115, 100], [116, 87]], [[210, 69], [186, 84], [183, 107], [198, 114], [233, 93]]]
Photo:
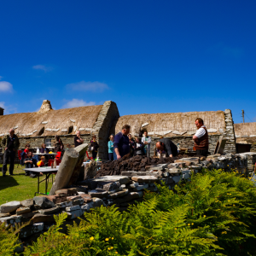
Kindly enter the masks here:
[[[2, 108], [3, 110], [3, 108]], [[99, 148], [99, 157], [108, 159], [108, 137], [121, 131], [125, 124], [131, 125], [133, 136], [142, 136], [147, 130], [155, 143], [161, 136], [170, 137], [182, 148], [193, 148], [192, 136], [195, 134], [195, 119], [201, 117], [209, 132], [210, 147], [213, 153], [218, 138], [227, 139], [226, 153], [236, 153], [236, 138], [230, 109], [225, 111], [187, 112], [187, 113], [142, 113], [119, 117], [115, 102], [103, 105], [54, 110], [45, 100], [38, 112], [13, 113], [3, 115], [0, 108], [0, 138], [13, 127], [20, 137], [20, 148], [30, 143], [32, 148], [41, 148], [42, 143], [54, 147], [55, 135], [59, 135], [64, 144], [73, 145], [76, 131], [81, 131], [85, 143], [95, 134]], [[154, 147], [154, 143], [151, 144]], [[152, 148], [153, 149], [153, 148]], [[153, 150], [151, 150], [153, 154]]]

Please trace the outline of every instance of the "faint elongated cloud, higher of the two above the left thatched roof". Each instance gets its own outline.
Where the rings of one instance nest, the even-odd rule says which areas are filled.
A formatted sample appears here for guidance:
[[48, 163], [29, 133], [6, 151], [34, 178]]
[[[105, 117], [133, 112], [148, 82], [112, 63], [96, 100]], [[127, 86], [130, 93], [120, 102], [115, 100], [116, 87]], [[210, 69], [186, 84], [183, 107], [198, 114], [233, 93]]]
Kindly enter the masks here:
[[108, 90], [108, 84], [100, 82], [85, 82], [81, 81], [79, 83], [67, 84], [67, 89], [80, 90], [80, 91], [92, 91], [92, 92], [102, 92], [103, 90]]

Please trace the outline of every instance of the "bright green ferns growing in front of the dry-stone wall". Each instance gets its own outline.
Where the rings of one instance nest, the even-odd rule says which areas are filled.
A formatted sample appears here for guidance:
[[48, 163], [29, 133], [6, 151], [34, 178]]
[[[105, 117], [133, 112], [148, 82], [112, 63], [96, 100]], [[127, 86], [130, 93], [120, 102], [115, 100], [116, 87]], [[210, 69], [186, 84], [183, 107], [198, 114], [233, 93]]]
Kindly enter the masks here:
[[127, 212], [99, 207], [80, 224], [56, 225], [24, 255], [255, 255], [256, 190], [235, 172], [202, 172], [175, 187], [158, 185]]

